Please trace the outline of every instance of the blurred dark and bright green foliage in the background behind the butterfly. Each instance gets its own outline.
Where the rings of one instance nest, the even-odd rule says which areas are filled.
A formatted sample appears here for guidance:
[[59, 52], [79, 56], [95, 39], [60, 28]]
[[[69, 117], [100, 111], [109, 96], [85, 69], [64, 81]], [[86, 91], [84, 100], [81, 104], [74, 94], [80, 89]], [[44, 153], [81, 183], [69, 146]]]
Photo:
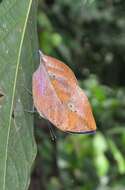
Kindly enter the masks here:
[[31, 189], [124, 189], [124, 10], [124, 0], [39, 1], [40, 48], [73, 69], [98, 129], [95, 135], [56, 131], [53, 142], [45, 121], [39, 124]]

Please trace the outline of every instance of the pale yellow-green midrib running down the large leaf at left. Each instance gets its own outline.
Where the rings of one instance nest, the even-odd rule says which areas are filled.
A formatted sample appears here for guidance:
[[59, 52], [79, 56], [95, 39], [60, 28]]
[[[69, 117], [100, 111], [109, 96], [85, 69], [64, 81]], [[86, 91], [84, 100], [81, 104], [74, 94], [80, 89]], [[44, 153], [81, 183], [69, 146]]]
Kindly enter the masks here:
[[5, 190], [5, 188], [6, 188], [6, 173], [7, 173], [7, 159], [8, 159], [7, 153], [8, 153], [11, 120], [12, 120], [12, 111], [13, 111], [13, 104], [14, 104], [14, 97], [15, 97], [15, 90], [16, 90], [16, 83], [17, 83], [17, 76], [18, 76], [18, 68], [19, 68], [19, 64], [20, 64], [21, 51], [22, 51], [22, 46], [23, 46], [23, 41], [24, 41], [24, 36], [25, 36], [25, 31], [26, 31], [26, 26], [27, 26], [27, 22], [28, 22], [31, 5], [32, 5], [32, 0], [30, 0], [29, 6], [27, 9], [26, 20], [24, 22], [22, 37], [21, 37], [20, 46], [19, 46], [19, 53], [18, 53], [18, 57], [17, 57], [17, 67], [16, 67], [16, 71], [15, 71], [15, 80], [14, 80], [14, 84], [13, 84], [13, 94], [12, 94], [11, 108], [10, 108], [10, 114], [9, 114], [7, 141], [6, 141], [6, 146], [5, 146], [6, 148], [5, 148], [4, 173], [3, 173], [3, 188], [2, 188], [3, 190]]

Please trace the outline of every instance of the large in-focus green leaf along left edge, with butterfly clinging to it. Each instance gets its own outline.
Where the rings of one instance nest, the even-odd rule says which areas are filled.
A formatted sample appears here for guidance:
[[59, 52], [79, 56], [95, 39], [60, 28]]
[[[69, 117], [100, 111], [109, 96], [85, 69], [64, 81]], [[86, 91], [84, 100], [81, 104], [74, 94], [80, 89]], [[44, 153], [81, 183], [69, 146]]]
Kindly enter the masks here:
[[26, 190], [36, 155], [33, 137], [32, 72], [38, 60], [36, 5], [0, 4], [0, 190]]

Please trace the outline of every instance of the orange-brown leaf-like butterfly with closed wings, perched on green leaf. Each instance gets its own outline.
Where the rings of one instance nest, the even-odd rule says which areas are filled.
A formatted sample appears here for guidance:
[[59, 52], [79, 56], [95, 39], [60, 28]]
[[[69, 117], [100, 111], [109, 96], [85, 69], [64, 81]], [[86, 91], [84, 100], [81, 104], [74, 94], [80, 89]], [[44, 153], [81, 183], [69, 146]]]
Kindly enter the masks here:
[[33, 73], [33, 101], [41, 117], [64, 132], [93, 133], [96, 123], [84, 91], [72, 70], [40, 51], [40, 65]]

